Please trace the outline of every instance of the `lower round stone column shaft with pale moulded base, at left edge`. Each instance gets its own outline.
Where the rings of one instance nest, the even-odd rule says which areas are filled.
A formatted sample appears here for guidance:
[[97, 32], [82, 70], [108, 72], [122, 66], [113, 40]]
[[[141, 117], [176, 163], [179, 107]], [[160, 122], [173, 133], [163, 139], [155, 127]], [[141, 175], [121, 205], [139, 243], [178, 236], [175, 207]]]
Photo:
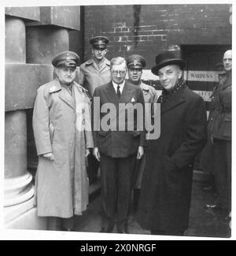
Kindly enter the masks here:
[[9, 111], [5, 117], [5, 200], [15, 206], [34, 195], [32, 176], [27, 171], [25, 110]]

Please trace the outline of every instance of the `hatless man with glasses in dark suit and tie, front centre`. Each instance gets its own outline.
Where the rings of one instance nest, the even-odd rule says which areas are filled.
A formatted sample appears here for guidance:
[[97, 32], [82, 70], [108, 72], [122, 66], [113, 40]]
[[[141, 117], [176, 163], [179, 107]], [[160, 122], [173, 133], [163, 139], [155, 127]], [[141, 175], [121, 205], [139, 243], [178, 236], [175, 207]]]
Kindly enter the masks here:
[[[143, 127], [138, 131], [138, 117], [142, 117], [141, 121], [144, 124], [142, 89], [126, 82], [126, 73], [124, 58], [112, 58], [112, 81], [97, 87], [94, 91], [94, 156], [100, 161], [101, 168], [101, 232], [112, 232], [116, 216], [117, 231], [128, 232], [127, 221], [135, 159], [141, 159], [144, 153], [145, 132]], [[98, 104], [96, 100], [99, 100]], [[128, 115], [123, 115], [122, 111], [119, 111], [122, 106], [126, 106], [127, 111], [131, 111], [135, 106], [141, 106], [142, 113], [138, 114], [137, 109], [137, 115], [133, 115], [134, 126], [130, 127], [131, 129]], [[106, 128], [105, 123], [108, 124]], [[121, 128], [123, 124], [124, 127]]]

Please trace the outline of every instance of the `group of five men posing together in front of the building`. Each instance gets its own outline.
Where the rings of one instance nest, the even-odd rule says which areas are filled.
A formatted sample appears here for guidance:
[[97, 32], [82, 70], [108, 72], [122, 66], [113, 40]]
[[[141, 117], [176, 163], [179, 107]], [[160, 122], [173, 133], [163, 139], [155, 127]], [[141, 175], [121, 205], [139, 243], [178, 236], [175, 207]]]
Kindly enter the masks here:
[[[104, 36], [90, 39], [93, 57], [80, 65], [79, 84], [74, 81], [79, 56], [57, 54], [52, 61], [57, 77], [38, 89], [33, 115], [38, 215], [48, 217], [49, 229], [73, 230], [73, 217], [87, 209], [88, 185], [100, 167], [101, 232], [112, 232], [115, 224], [117, 232], [129, 232], [134, 190], [142, 228], [183, 235], [194, 157], [207, 141], [205, 103], [186, 86], [185, 63], [171, 51], [158, 54], [152, 69], [163, 87], [158, 98], [141, 81], [145, 58], [133, 54], [108, 61], [108, 43]], [[155, 121], [158, 103], [160, 137], [148, 139], [146, 116]], [[133, 111], [132, 118], [122, 115], [120, 106]]]

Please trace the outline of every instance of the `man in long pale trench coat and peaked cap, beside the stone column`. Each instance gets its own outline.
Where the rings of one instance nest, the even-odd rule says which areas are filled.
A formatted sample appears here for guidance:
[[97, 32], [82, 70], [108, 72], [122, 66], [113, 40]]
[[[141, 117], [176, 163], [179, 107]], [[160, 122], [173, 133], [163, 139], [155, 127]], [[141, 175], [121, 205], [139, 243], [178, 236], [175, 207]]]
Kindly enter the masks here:
[[86, 157], [94, 147], [87, 90], [74, 81], [79, 56], [72, 51], [52, 61], [57, 77], [37, 91], [33, 130], [39, 156], [36, 203], [48, 229], [72, 230], [74, 214], [87, 209]]

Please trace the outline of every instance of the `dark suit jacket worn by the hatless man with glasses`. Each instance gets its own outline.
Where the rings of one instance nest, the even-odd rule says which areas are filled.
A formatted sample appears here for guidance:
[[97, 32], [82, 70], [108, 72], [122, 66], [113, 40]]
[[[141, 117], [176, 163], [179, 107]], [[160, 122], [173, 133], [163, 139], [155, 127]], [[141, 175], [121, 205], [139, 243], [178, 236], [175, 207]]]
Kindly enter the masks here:
[[[98, 97], [100, 99], [100, 105], [96, 106], [94, 98]], [[144, 98], [142, 95], [142, 89], [138, 86], [135, 86], [131, 83], [125, 82], [122, 94], [120, 99], [116, 95], [116, 91], [112, 85], [112, 82], [105, 83], [100, 87], [97, 87], [94, 91], [93, 98], [93, 127], [94, 127], [94, 147], [98, 147], [100, 153], [108, 155], [112, 158], [127, 158], [131, 154], [135, 154], [138, 151], [138, 146], [145, 145], [145, 135], [144, 131]], [[110, 115], [109, 124], [110, 128], [105, 131], [101, 127], [102, 119], [108, 117], [109, 110], [105, 113], [101, 113], [101, 107], [104, 107], [105, 103], [112, 103], [116, 113]], [[142, 130], [138, 131], [137, 127], [137, 118], [134, 118], [134, 131], [128, 131], [127, 124], [131, 120], [125, 116], [123, 131], [119, 131], [119, 103], [130, 103], [128, 104], [128, 109], [131, 109], [135, 103], [142, 105]], [[100, 117], [96, 118], [96, 117]], [[137, 117], [135, 115], [135, 117]], [[139, 116], [141, 117], [141, 116]], [[96, 131], [96, 128], [100, 131]]]

